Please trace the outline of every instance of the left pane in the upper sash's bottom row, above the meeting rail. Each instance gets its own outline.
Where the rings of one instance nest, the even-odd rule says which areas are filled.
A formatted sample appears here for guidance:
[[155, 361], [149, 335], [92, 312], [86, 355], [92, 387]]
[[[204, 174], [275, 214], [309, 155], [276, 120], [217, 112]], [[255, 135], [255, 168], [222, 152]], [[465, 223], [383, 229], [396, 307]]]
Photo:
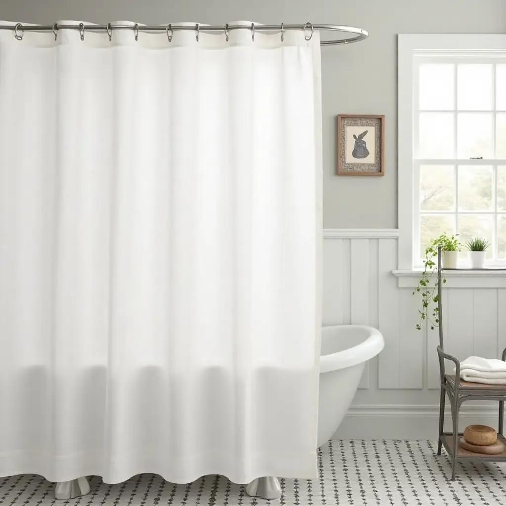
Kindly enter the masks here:
[[453, 113], [420, 112], [419, 158], [453, 158]]

